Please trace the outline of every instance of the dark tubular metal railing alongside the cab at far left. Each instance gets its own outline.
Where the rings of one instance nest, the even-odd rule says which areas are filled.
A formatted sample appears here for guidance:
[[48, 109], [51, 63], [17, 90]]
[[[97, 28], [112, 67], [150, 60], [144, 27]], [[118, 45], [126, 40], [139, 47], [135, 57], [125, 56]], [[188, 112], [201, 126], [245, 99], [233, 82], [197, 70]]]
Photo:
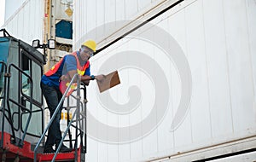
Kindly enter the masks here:
[[[32, 78], [26, 73], [24, 72], [22, 69], [20, 69], [20, 67], [17, 67], [15, 66], [15, 64], [11, 63], [9, 64], [9, 67], [7, 68], [7, 65], [5, 62], [3, 61], [0, 61], [0, 66], [1, 66], [1, 72], [3, 72], [4, 74], [4, 80], [3, 80], [3, 90], [2, 90], [2, 94], [0, 96], [0, 99], [1, 99], [1, 107], [0, 107], [0, 112], [2, 112], [2, 116], [0, 116], [0, 123], [1, 123], [1, 127], [2, 129], [0, 130], [2, 132], [2, 135], [1, 135], [1, 142], [0, 142], [0, 147], [3, 147], [3, 135], [4, 135], [4, 129], [7, 125], [5, 125], [5, 120], [9, 123], [9, 127], [7, 127], [7, 131], [11, 134], [11, 139], [10, 139], [10, 142], [12, 142], [13, 144], [15, 144], [16, 146], [22, 148], [23, 147], [23, 142], [25, 141], [25, 137], [27, 134], [29, 134], [27, 132], [28, 130], [28, 127], [29, 127], [29, 124], [31, 123], [31, 119], [32, 119], [32, 113], [36, 113], [36, 112], [41, 112], [42, 111], [42, 114], [43, 114], [43, 110], [37, 110], [37, 111], [33, 111], [32, 110], [32, 104], [33, 104], [33, 99], [32, 99], [32, 95], [33, 95], [33, 92], [32, 92], [32, 89], [33, 89], [33, 82], [32, 82]], [[4, 69], [2, 69], [4, 68]], [[26, 107], [26, 105], [22, 104], [20, 101], [20, 94], [21, 94], [21, 88], [20, 88], [20, 82], [18, 82], [18, 86], [17, 86], [17, 90], [15, 91], [15, 93], [19, 94], [16, 98], [13, 98], [12, 95], [10, 95], [10, 84], [11, 84], [11, 73], [12, 73], [12, 70], [11, 69], [15, 69], [19, 74], [18, 76], [20, 75], [24, 75], [26, 78], [27, 78], [27, 82], [29, 83], [29, 94], [30, 95], [27, 95], [26, 96], [26, 101], [28, 101], [30, 103], [29, 107]], [[21, 78], [19, 77], [19, 80]], [[22, 96], [21, 96], [22, 98]], [[16, 107], [18, 107], [18, 110], [17, 112], [13, 112], [12, 113], [12, 106], [11, 104], [14, 104]], [[28, 114], [28, 117], [26, 119], [26, 122], [25, 122], [25, 128], [22, 129], [22, 126], [20, 126], [20, 122], [22, 122], [22, 119], [20, 119], [20, 111], [22, 113], [27, 113]], [[15, 117], [14, 115], [17, 114], [18, 115], [18, 127], [15, 128], [15, 125], [14, 125], [14, 120], [15, 120]], [[43, 118], [42, 118], [43, 119]], [[16, 131], [21, 131], [23, 133], [23, 135], [21, 136], [21, 138], [17, 138], [16, 134], [15, 133], [15, 130]], [[19, 141], [17, 141], [17, 139], [19, 139]]]

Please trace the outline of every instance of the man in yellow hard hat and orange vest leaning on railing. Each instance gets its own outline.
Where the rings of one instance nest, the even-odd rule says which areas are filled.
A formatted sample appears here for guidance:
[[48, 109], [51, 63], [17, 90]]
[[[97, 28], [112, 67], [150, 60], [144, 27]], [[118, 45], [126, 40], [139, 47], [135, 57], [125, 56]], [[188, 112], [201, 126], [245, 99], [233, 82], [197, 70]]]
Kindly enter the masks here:
[[[50, 117], [52, 117], [55, 108], [61, 101], [61, 97], [68, 86], [68, 82], [70, 82], [76, 73], [79, 73], [81, 82], [86, 85], [89, 84], [90, 80], [96, 79], [102, 81], [102, 79], [105, 78], [104, 75], [90, 75], [89, 59], [93, 56], [94, 52], [96, 52], [96, 42], [88, 40], [81, 45], [79, 51], [65, 55], [61, 61], [57, 62], [54, 67], [43, 75], [40, 85], [49, 108]], [[70, 95], [71, 92], [72, 90], [70, 90], [67, 95]], [[49, 127], [44, 153], [55, 153], [53, 146], [55, 145], [55, 148], [58, 148], [61, 142], [61, 109], [62, 106]], [[60, 153], [71, 151], [72, 148], [67, 148], [64, 144], [61, 145]]]

